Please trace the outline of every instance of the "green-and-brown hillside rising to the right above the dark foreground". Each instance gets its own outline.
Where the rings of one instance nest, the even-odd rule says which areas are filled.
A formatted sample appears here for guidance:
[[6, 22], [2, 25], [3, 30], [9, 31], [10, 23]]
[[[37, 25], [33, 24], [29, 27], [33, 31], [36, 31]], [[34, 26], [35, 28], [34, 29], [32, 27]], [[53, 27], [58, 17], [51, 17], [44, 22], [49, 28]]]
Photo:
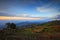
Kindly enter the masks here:
[[[58, 32], [57, 30], [59, 30], [60, 28], [60, 20], [59, 21], [51, 21], [51, 22], [47, 22], [44, 24], [38, 24], [38, 25], [31, 25], [31, 28], [27, 28], [28, 30], [31, 29], [32, 31], [36, 31], [36, 32], [49, 32], [49, 31], [53, 31], [53, 32]], [[60, 32], [60, 31], [59, 31]]]

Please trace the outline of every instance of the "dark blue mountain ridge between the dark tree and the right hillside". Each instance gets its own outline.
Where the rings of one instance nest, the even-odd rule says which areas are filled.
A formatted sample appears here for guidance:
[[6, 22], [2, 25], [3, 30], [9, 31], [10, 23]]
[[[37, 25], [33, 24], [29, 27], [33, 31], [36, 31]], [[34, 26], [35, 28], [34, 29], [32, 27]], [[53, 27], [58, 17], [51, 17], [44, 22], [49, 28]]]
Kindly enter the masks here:
[[17, 23], [16, 25], [17, 26], [25, 26], [25, 25], [32, 25], [32, 24], [43, 24], [43, 23], [46, 23], [48, 21], [52, 21], [52, 20], [36, 20], [36, 21], [25, 21], [25, 22], [20, 22], [20, 23]]

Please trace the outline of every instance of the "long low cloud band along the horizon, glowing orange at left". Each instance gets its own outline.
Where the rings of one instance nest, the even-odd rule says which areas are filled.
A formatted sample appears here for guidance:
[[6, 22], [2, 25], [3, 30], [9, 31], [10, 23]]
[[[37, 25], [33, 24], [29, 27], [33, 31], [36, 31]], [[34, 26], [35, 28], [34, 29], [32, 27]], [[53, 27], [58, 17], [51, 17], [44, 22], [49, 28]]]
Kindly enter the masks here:
[[27, 13], [12, 15], [10, 13], [0, 12], [0, 20], [42, 20], [43, 17], [34, 17], [34, 15], [29, 15]]

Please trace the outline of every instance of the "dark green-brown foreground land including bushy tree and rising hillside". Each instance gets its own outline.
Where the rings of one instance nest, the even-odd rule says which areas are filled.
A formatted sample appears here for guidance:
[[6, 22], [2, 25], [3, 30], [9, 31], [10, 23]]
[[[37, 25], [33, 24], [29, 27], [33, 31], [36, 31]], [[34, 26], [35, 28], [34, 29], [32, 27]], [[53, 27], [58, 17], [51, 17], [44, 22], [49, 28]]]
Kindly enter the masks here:
[[14, 23], [6, 26], [0, 30], [0, 40], [60, 40], [60, 20], [28, 27], [16, 27]]

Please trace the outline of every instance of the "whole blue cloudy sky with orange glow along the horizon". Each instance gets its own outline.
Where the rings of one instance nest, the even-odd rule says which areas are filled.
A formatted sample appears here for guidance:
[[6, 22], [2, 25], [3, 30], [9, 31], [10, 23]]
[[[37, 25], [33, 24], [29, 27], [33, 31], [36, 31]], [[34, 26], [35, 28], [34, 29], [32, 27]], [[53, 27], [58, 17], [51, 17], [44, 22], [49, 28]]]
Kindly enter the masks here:
[[0, 20], [60, 20], [60, 0], [0, 0]]

